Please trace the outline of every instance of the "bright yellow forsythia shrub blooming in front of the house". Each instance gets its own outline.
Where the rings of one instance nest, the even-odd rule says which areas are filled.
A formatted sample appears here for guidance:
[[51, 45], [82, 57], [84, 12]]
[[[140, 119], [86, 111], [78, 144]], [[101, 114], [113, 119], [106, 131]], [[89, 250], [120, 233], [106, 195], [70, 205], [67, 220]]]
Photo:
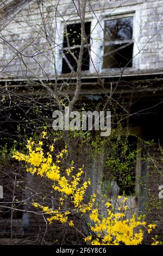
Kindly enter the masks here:
[[[45, 139], [46, 132], [42, 132], [42, 139]], [[53, 181], [53, 190], [60, 194], [60, 205], [57, 209], [51, 209], [48, 206], [42, 206], [38, 203], [33, 203], [35, 208], [39, 208], [46, 213], [47, 221], [51, 224], [53, 221], [61, 223], [68, 223], [74, 227], [73, 220], [70, 220], [71, 210], [64, 209], [64, 201], [67, 196], [73, 203], [74, 210], [81, 212], [81, 214], [89, 214], [92, 221], [91, 230], [95, 236], [85, 236], [84, 240], [91, 245], [139, 245], [143, 240], [143, 233], [147, 229], [148, 233], [155, 228], [154, 224], [149, 224], [143, 221], [142, 216], [134, 214], [131, 218], [126, 217], [127, 206], [125, 205], [127, 198], [124, 198], [123, 205], [112, 211], [111, 203], [106, 203], [106, 215], [102, 217], [100, 211], [95, 207], [96, 194], [93, 194], [87, 204], [84, 203], [85, 192], [91, 181], [82, 181], [84, 173], [83, 168], [79, 168], [78, 172], [74, 174], [74, 167], [70, 166], [61, 171], [61, 161], [67, 150], [62, 150], [56, 157], [55, 162], [52, 159], [52, 152], [54, 145], [49, 146], [49, 151], [45, 154], [43, 151], [43, 142], [36, 143], [29, 139], [27, 141], [28, 154], [22, 154], [15, 151], [13, 157], [18, 161], [28, 163], [27, 172], [37, 174], [39, 176], [46, 176]], [[119, 196], [120, 197], [120, 196]], [[74, 211], [73, 210], [73, 211]], [[159, 242], [153, 239], [152, 245], [157, 245]]]

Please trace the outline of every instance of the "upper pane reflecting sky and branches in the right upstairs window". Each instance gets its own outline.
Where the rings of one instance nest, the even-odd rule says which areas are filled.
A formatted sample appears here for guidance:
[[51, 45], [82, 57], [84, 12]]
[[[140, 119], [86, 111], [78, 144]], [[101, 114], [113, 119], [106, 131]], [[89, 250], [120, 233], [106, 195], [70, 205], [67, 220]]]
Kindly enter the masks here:
[[104, 42], [129, 40], [133, 35], [133, 17], [105, 21]]

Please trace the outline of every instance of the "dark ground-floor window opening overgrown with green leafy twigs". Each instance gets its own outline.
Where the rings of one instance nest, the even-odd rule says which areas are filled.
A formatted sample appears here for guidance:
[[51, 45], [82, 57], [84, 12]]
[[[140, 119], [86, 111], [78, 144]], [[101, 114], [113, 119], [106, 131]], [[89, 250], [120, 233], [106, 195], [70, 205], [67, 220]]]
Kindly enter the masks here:
[[105, 161], [104, 190], [110, 196], [135, 194], [137, 137], [111, 140]]

